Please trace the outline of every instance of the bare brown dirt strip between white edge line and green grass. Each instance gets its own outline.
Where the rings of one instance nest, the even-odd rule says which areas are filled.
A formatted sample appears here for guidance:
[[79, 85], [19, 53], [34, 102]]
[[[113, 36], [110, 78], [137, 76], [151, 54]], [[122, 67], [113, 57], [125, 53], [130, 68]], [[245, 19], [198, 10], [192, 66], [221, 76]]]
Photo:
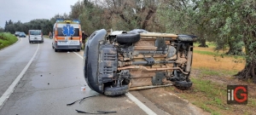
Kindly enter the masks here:
[[204, 112], [201, 108], [179, 97], [177, 93], [166, 89], [168, 88], [143, 89], [138, 92], [155, 106], [172, 115], [210, 115], [209, 112]]

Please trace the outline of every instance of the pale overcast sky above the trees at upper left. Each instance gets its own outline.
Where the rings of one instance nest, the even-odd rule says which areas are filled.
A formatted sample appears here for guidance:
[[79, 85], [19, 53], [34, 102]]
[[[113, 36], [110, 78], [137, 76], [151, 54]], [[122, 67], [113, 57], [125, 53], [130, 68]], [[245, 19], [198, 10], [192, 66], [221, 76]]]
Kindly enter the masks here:
[[70, 6], [79, 0], [0, 0], [0, 27], [5, 21], [22, 23], [34, 19], [50, 19], [55, 14], [69, 14]]

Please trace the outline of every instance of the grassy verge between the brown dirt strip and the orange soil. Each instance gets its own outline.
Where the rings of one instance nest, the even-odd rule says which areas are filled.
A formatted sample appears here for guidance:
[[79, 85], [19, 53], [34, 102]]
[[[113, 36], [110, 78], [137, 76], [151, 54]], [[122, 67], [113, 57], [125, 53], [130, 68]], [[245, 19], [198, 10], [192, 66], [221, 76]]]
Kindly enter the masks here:
[[[193, 86], [189, 90], [176, 88], [166, 89], [175, 95], [181, 96], [205, 112], [212, 114], [255, 115], [256, 114], [256, 85], [233, 77], [223, 70], [193, 69], [191, 78]], [[218, 74], [213, 74], [218, 73]], [[247, 85], [247, 105], [227, 104], [227, 85]]]

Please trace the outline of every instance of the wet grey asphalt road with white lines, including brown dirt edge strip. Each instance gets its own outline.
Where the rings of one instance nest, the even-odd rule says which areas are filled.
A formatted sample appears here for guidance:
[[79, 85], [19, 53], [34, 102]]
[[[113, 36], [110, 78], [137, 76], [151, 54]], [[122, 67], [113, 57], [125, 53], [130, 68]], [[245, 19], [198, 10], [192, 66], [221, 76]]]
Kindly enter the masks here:
[[[122, 115], [204, 114], [188, 101], [161, 89], [130, 91], [117, 97], [100, 95], [85, 83], [83, 54], [83, 50], [55, 53], [48, 38], [44, 43], [29, 43], [27, 37], [22, 37], [0, 50], [0, 115], [80, 114], [75, 110]], [[4, 95], [8, 92], [11, 95]], [[91, 95], [96, 96], [79, 103]], [[73, 101], [78, 102], [67, 106]]]

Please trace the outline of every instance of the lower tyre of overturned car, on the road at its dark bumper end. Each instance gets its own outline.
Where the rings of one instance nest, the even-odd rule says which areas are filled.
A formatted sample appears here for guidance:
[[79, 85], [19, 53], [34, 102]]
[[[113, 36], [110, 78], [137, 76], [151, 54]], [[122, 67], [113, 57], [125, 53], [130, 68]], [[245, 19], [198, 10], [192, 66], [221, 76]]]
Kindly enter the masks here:
[[123, 85], [121, 87], [106, 87], [104, 91], [104, 95], [108, 96], [116, 96], [116, 95], [123, 95], [129, 91], [128, 85]]

